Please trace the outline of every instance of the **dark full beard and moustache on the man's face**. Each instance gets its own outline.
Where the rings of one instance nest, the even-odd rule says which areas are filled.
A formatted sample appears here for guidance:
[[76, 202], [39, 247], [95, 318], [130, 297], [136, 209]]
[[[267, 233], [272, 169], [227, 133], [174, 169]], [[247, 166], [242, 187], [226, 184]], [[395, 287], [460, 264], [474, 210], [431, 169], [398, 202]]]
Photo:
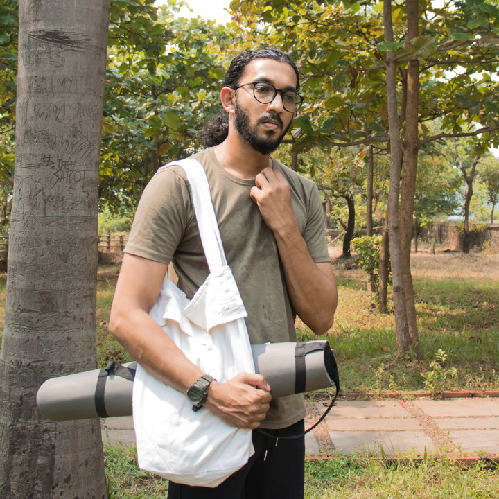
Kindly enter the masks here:
[[[268, 155], [279, 147], [279, 144], [288, 133], [292, 123], [292, 121], [290, 121], [289, 125], [286, 127], [286, 130], [283, 130], [281, 135], [278, 137], [275, 137], [274, 134], [272, 134], [272, 131], [269, 131], [267, 134], [259, 134], [256, 126], [252, 127], [250, 124], [249, 113], [247, 110], [243, 109], [243, 107], [240, 107], [237, 100], [234, 118], [234, 127], [239, 132], [240, 136], [243, 137], [247, 143], [249, 143], [249, 146], [252, 146], [254, 150], [263, 155]], [[259, 125], [259, 123], [263, 123], [268, 119], [277, 121], [279, 125], [281, 125], [281, 129], [283, 128], [283, 122], [280, 116], [276, 113], [268, 114], [268, 116], [259, 119], [259, 121], [256, 122], [256, 125]]]

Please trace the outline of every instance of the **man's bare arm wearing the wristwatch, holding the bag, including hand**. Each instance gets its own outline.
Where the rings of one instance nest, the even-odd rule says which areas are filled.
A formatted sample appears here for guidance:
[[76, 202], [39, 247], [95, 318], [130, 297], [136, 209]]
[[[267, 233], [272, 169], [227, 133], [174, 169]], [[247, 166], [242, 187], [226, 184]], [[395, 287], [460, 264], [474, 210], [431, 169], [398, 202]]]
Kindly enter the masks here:
[[[167, 265], [126, 254], [116, 283], [109, 329], [130, 355], [152, 376], [186, 393], [204, 373], [149, 316], [166, 275]], [[260, 374], [241, 373], [208, 388], [209, 410], [238, 428], [257, 428], [270, 403], [270, 387]]]

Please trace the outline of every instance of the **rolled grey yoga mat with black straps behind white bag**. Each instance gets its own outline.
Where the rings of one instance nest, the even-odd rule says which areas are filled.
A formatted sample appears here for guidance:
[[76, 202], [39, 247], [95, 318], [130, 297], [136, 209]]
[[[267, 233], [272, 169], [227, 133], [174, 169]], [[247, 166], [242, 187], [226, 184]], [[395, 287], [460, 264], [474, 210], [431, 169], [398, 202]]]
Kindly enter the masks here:
[[[265, 376], [272, 397], [340, 388], [338, 367], [327, 341], [252, 345], [255, 371]], [[109, 362], [94, 369], [46, 380], [37, 406], [52, 421], [132, 415], [132, 389], [137, 362]]]

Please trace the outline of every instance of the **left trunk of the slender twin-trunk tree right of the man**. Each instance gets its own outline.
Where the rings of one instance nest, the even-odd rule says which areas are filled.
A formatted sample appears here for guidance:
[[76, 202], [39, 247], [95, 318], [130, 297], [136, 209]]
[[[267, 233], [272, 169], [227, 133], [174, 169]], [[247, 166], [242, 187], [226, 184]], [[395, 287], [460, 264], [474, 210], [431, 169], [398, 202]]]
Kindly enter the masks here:
[[[392, 4], [383, 2], [383, 24], [385, 40], [393, 42]], [[399, 222], [399, 193], [402, 168], [400, 122], [396, 98], [395, 52], [387, 51], [387, 111], [390, 146], [390, 180], [388, 191], [387, 220], [389, 230], [389, 250], [392, 261], [393, 299], [395, 311], [395, 334], [399, 352], [410, 349], [407, 310], [405, 306], [405, 287], [403, 281], [404, 259]]]

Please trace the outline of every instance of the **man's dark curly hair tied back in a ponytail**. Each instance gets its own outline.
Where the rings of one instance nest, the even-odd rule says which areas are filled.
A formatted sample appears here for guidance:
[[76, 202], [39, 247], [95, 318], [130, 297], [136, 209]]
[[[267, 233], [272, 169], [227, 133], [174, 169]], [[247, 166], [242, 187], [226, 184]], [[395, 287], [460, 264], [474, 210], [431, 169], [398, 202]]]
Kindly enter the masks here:
[[[297, 77], [296, 89], [299, 89], [299, 71], [289, 55], [274, 47], [263, 47], [262, 49], [252, 49], [241, 52], [232, 60], [223, 81], [224, 87], [235, 89], [247, 65], [255, 59], [273, 59], [277, 62], [289, 64], [295, 71]], [[211, 119], [199, 132], [198, 139], [204, 143], [205, 147], [217, 146], [227, 138], [229, 133], [229, 114], [224, 110]]]

